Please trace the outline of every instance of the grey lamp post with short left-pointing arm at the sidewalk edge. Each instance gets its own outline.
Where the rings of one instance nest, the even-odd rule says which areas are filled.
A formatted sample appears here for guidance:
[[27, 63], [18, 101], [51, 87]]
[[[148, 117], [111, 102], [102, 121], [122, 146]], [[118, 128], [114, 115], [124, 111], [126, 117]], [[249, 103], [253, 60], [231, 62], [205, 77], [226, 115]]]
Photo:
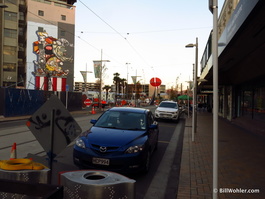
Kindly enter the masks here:
[[194, 66], [194, 85], [193, 85], [193, 108], [192, 108], [192, 141], [194, 142], [194, 133], [197, 128], [197, 69], [198, 69], [198, 38], [196, 37], [195, 44], [188, 44], [186, 48], [196, 47], [195, 50], [195, 66]]

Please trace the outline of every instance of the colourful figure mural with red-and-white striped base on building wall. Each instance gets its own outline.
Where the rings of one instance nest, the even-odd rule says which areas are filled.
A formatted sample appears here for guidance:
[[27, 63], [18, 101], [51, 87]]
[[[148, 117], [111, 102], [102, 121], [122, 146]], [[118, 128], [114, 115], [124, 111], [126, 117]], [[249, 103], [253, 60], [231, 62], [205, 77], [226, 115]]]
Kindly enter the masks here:
[[[44, 30], [37, 32], [38, 41], [33, 43], [33, 52], [37, 55], [34, 60], [33, 72], [36, 77], [36, 89], [41, 90], [65, 90], [66, 77], [69, 70], [63, 69], [64, 62], [72, 62], [72, 57], [67, 57], [67, 47], [73, 47], [66, 39], [56, 39], [48, 35]], [[57, 89], [57, 84], [61, 88]]]

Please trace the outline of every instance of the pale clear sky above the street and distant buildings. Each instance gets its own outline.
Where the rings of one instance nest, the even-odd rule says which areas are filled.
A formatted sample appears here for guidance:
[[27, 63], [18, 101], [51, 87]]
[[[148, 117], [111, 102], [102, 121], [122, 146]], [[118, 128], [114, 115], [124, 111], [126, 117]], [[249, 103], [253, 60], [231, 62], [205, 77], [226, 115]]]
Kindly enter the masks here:
[[[219, 0], [221, 11], [224, 0]], [[93, 60], [109, 60], [104, 84], [111, 85], [113, 74], [132, 83], [131, 76], [149, 83], [159, 77], [167, 88], [192, 80], [196, 43], [200, 62], [213, 26], [208, 0], [78, 0], [75, 27], [75, 80], [80, 71], [92, 71]], [[127, 64], [126, 63], [130, 63]], [[128, 66], [128, 67], [127, 67]], [[200, 63], [198, 71], [200, 71]], [[198, 73], [199, 75], [199, 73]]]

